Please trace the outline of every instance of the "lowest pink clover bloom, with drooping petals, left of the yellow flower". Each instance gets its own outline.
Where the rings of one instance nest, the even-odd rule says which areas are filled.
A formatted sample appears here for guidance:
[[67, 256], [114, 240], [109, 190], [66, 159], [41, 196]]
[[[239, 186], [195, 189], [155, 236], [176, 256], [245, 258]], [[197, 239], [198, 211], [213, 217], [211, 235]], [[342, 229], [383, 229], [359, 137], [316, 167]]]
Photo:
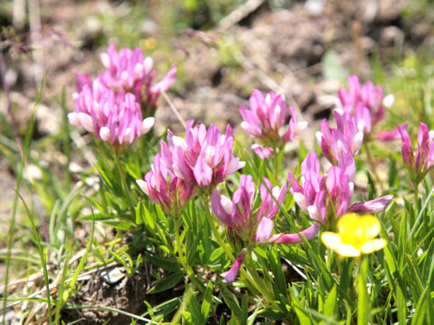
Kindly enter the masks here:
[[[227, 281], [233, 281], [237, 276], [246, 255], [246, 249], [250, 250], [258, 243], [297, 244], [302, 242], [298, 234], [280, 234], [271, 237], [273, 218], [278, 214], [279, 206], [285, 200], [287, 184], [285, 183], [281, 188], [273, 188], [271, 182], [264, 178], [263, 183], [259, 186], [261, 203], [258, 209], [253, 209], [255, 192], [253, 178], [244, 174], [240, 177], [240, 188], [235, 190], [232, 200], [220, 195], [218, 190], [212, 192], [212, 213], [228, 228], [227, 236], [231, 246], [241, 250], [231, 270], [221, 274]], [[317, 227], [315, 226], [301, 234], [310, 240], [316, 236], [316, 232]]]

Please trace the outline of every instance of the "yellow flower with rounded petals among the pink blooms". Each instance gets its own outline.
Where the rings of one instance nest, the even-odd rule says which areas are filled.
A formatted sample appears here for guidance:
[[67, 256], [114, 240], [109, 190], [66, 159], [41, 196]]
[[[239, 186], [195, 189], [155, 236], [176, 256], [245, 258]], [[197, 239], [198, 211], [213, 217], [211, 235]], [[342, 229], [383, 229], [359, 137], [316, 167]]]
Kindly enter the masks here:
[[321, 240], [339, 255], [356, 257], [386, 246], [384, 239], [374, 238], [380, 233], [380, 221], [373, 215], [347, 213], [337, 221], [337, 230], [337, 233], [325, 231]]

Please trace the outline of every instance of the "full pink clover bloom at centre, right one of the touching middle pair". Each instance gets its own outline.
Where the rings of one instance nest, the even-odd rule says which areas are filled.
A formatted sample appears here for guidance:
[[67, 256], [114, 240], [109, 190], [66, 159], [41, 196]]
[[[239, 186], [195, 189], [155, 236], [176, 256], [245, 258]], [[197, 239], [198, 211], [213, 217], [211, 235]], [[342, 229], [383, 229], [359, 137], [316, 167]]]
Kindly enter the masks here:
[[227, 125], [222, 135], [215, 125], [206, 129], [205, 125], [193, 124], [194, 120], [187, 121], [184, 138], [168, 131], [167, 144], [162, 143], [162, 156], [176, 177], [199, 192], [211, 195], [218, 183], [246, 163], [232, 154], [231, 125]]

